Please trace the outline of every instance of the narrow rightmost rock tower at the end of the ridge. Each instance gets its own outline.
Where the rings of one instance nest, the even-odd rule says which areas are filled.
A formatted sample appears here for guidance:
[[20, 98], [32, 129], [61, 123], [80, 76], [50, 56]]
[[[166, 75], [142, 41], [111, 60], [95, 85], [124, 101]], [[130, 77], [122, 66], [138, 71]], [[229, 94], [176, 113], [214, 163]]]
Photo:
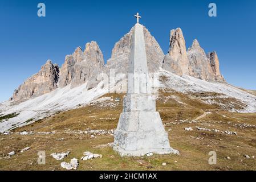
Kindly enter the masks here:
[[224, 77], [221, 75], [220, 72], [220, 62], [217, 56], [217, 53], [210, 52], [207, 55], [208, 59], [210, 60], [210, 66], [212, 67], [212, 71], [214, 73], [215, 79], [217, 81], [225, 81]]

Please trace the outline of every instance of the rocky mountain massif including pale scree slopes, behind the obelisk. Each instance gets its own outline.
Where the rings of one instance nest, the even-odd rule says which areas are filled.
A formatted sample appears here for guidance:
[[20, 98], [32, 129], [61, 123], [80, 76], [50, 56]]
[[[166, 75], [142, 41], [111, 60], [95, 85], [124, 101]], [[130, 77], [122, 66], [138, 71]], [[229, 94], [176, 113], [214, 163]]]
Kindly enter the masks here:
[[[87, 43], [84, 50], [78, 47], [72, 55], [67, 55], [61, 68], [48, 60], [38, 73], [27, 78], [14, 91], [10, 101], [0, 104], [2, 118], [11, 117], [0, 122], [0, 132], [101, 100], [109, 89], [124, 88], [127, 85], [125, 76], [134, 28], [115, 44], [107, 64], [104, 64], [103, 53], [94, 41]], [[213, 105], [225, 111], [256, 111], [253, 92], [225, 82], [215, 51], [206, 55], [197, 39], [186, 49], [182, 30], [176, 28], [170, 31], [169, 51], [164, 55], [156, 39], [144, 26], [143, 34], [148, 72], [159, 73], [158, 88], [164, 93], [188, 94], [186, 97], [193, 102]], [[97, 76], [100, 73], [109, 75], [111, 69], [115, 69], [116, 75], [123, 73], [124, 77], [105, 88], [104, 82]]]

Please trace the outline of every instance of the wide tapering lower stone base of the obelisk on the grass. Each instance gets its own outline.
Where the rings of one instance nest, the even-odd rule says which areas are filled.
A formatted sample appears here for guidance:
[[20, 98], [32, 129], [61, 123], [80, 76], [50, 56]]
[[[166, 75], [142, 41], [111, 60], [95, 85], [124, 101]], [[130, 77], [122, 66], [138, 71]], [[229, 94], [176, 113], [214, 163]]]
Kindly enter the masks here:
[[143, 156], [151, 152], [179, 154], [177, 150], [170, 147], [168, 134], [162, 126], [159, 112], [156, 111], [121, 113], [114, 137], [113, 149], [121, 156]]

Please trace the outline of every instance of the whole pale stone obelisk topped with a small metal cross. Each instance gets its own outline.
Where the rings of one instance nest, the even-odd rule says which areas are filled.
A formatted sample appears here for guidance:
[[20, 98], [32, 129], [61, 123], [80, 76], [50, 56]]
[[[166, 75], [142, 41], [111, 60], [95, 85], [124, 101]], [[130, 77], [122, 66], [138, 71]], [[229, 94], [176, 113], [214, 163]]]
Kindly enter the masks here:
[[148, 88], [148, 65], [143, 26], [133, 27], [131, 54], [129, 57], [128, 87], [124, 98], [123, 113], [115, 130], [113, 149], [121, 156], [156, 154], [178, 154], [170, 147], [168, 134], [156, 111], [154, 94]]

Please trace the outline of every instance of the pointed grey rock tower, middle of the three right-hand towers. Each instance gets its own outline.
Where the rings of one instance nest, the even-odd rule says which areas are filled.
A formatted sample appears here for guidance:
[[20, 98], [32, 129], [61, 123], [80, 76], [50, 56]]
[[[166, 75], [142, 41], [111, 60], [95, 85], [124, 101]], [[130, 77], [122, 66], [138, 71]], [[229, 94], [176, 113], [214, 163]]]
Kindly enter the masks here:
[[197, 39], [188, 49], [189, 75], [202, 80], [215, 80], [214, 73], [210, 67], [210, 61], [204, 49], [200, 47]]

